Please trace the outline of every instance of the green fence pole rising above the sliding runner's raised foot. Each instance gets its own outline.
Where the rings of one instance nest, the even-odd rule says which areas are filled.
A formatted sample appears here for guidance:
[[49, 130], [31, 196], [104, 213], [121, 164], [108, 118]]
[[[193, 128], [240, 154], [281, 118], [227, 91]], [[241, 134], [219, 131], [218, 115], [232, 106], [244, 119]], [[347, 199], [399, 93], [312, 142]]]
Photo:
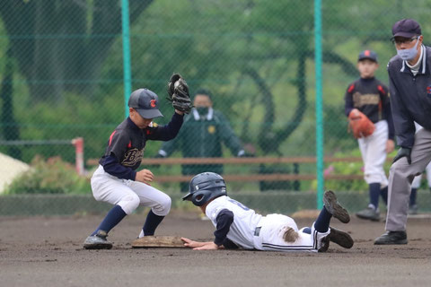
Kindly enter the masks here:
[[321, 89], [321, 0], [314, 0], [314, 58], [316, 74], [316, 178], [317, 178], [317, 209], [323, 206], [323, 117]]

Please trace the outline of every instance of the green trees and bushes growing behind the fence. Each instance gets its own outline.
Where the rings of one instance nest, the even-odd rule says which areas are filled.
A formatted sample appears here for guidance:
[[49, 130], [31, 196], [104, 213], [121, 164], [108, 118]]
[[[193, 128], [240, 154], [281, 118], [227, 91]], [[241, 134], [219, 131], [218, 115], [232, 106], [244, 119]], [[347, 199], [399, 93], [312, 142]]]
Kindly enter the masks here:
[[[147, 87], [164, 99], [165, 83], [172, 72], [179, 72], [192, 92], [198, 87], [213, 91], [216, 109], [257, 155], [315, 155], [312, 0], [129, 4], [134, 90]], [[357, 54], [374, 49], [381, 64], [376, 76], [387, 83], [385, 65], [395, 54], [391, 25], [401, 18], [417, 19], [427, 44], [430, 7], [430, 0], [323, 1], [325, 155], [358, 154], [343, 114], [347, 84], [358, 77]], [[125, 117], [120, 33], [117, 0], [2, 1], [0, 140], [82, 136], [85, 159], [101, 157], [111, 131]], [[161, 109], [163, 124], [173, 111], [166, 100]], [[149, 143], [145, 157], [154, 156], [160, 144]], [[71, 145], [0, 146], [0, 152], [26, 162], [38, 154], [75, 161]], [[360, 164], [339, 165], [334, 169], [361, 173]], [[300, 170], [312, 173], [314, 167]], [[365, 188], [362, 182], [338, 185]], [[233, 187], [256, 188], [242, 183]], [[313, 184], [304, 182], [301, 188], [313, 189]]]

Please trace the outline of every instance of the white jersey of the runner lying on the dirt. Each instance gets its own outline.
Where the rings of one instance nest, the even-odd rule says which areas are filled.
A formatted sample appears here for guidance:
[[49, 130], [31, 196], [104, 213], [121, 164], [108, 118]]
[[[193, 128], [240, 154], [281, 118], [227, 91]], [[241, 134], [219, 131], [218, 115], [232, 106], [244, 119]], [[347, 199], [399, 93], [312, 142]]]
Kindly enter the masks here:
[[227, 238], [236, 245], [245, 249], [254, 247], [254, 231], [258, 226], [262, 215], [255, 213], [254, 210], [233, 200], [229, 196], [220, 196], [207, 205], [207, 217], [217, 226], [216, 218], [218, 213], [227, 209], [233, 213], [233, 223]]

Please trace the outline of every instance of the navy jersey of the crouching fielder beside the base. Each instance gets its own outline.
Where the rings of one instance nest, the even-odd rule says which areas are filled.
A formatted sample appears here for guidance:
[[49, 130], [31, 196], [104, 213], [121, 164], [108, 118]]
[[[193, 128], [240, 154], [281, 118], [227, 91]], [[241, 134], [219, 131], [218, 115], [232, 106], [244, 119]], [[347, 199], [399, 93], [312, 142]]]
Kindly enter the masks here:
[[152, 123], [144, 129], [126, 118], [110, 135], [105, 154], [99, 163], [110, 175], [135, 180], [136, 169], [141, 165], [148, 140], [169, 141], [180, 131], [183, 116], [174, 113], [166, 126]]

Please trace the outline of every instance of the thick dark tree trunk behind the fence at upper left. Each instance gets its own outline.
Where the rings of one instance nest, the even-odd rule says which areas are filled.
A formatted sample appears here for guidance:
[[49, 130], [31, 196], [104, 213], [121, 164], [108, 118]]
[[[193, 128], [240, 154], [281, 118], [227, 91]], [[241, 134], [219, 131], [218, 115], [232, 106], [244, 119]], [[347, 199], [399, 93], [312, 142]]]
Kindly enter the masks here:
[[[133, 24], [153, 0], [130, 0]], [[61, 101], [66, 91], [91, 95], [121, 32], [117, 0], [4, 0], [0, 16], [31, 101]]]

